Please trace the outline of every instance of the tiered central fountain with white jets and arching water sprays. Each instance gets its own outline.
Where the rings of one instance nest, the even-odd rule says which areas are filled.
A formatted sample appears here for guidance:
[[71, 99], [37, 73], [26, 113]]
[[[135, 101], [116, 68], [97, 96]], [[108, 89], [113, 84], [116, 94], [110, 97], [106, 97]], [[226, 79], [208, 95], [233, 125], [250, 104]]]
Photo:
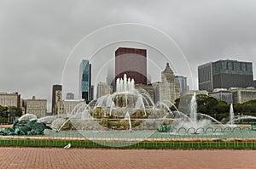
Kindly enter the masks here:
[[[92, 102], [94, 104], [91, 104]], [[197, 129], [211, 127], [212, 121], [223, 126], [212, 116], [197, 113], [195, 93], [190, 100], [187, 115], [177, 108], [172, 112], [165, 101], [155, 105], [148, 93], [137, 90], [134, 79], [127, 78], [126, 75], [117, 79], [115, 93], [102, 96], [92, 102], [87, 106], [80, 106], [77, 112], [62, 120], [57, 131], [60, 131], [67, 122], [72, 123], [73, 128], [77, 130], [97, 132], [108, 130], [131, 132], [141, 129], [176, 132], [180, 128], [194, 128], [193, 133], [198, 134]], [[199, 117], [204, 119], [198, 120]]]

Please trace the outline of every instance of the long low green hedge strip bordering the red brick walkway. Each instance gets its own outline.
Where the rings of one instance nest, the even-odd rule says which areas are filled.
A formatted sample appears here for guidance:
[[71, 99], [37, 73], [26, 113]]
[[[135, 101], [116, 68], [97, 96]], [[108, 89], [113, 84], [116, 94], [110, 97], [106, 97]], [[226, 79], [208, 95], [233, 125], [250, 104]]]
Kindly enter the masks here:
[[[107, 146], [83, 140], [39, 140], [39, 139], [0, 139], [0, 147], [51, 147], [63, 148], [71, 144], [72, 148], [89, 149], [256, 149], [256, 142], [139, 142], [129, 146]], [[106, 142], [105, 144], [113, 144]], [[123, 142], [113, 145], [124, 144]]]

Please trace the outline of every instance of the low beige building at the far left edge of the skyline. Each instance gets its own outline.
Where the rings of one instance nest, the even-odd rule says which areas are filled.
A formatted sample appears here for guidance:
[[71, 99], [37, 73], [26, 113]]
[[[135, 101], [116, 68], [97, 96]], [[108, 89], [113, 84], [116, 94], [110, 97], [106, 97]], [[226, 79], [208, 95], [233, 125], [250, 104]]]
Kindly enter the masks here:
[[0, 105], [4, 107], [21, 107], [19, 93], [0, 93]]

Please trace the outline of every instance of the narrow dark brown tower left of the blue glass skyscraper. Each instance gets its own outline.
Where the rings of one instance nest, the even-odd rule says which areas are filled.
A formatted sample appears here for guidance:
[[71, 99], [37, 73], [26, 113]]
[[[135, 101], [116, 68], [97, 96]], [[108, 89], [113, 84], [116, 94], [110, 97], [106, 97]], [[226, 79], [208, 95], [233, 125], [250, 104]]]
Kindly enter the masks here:
[[51, 99], [51, 113], [57, 114], [57, 104], [62, 101], [62, 86], [53, 85], [52, 87], [52, 99]]

